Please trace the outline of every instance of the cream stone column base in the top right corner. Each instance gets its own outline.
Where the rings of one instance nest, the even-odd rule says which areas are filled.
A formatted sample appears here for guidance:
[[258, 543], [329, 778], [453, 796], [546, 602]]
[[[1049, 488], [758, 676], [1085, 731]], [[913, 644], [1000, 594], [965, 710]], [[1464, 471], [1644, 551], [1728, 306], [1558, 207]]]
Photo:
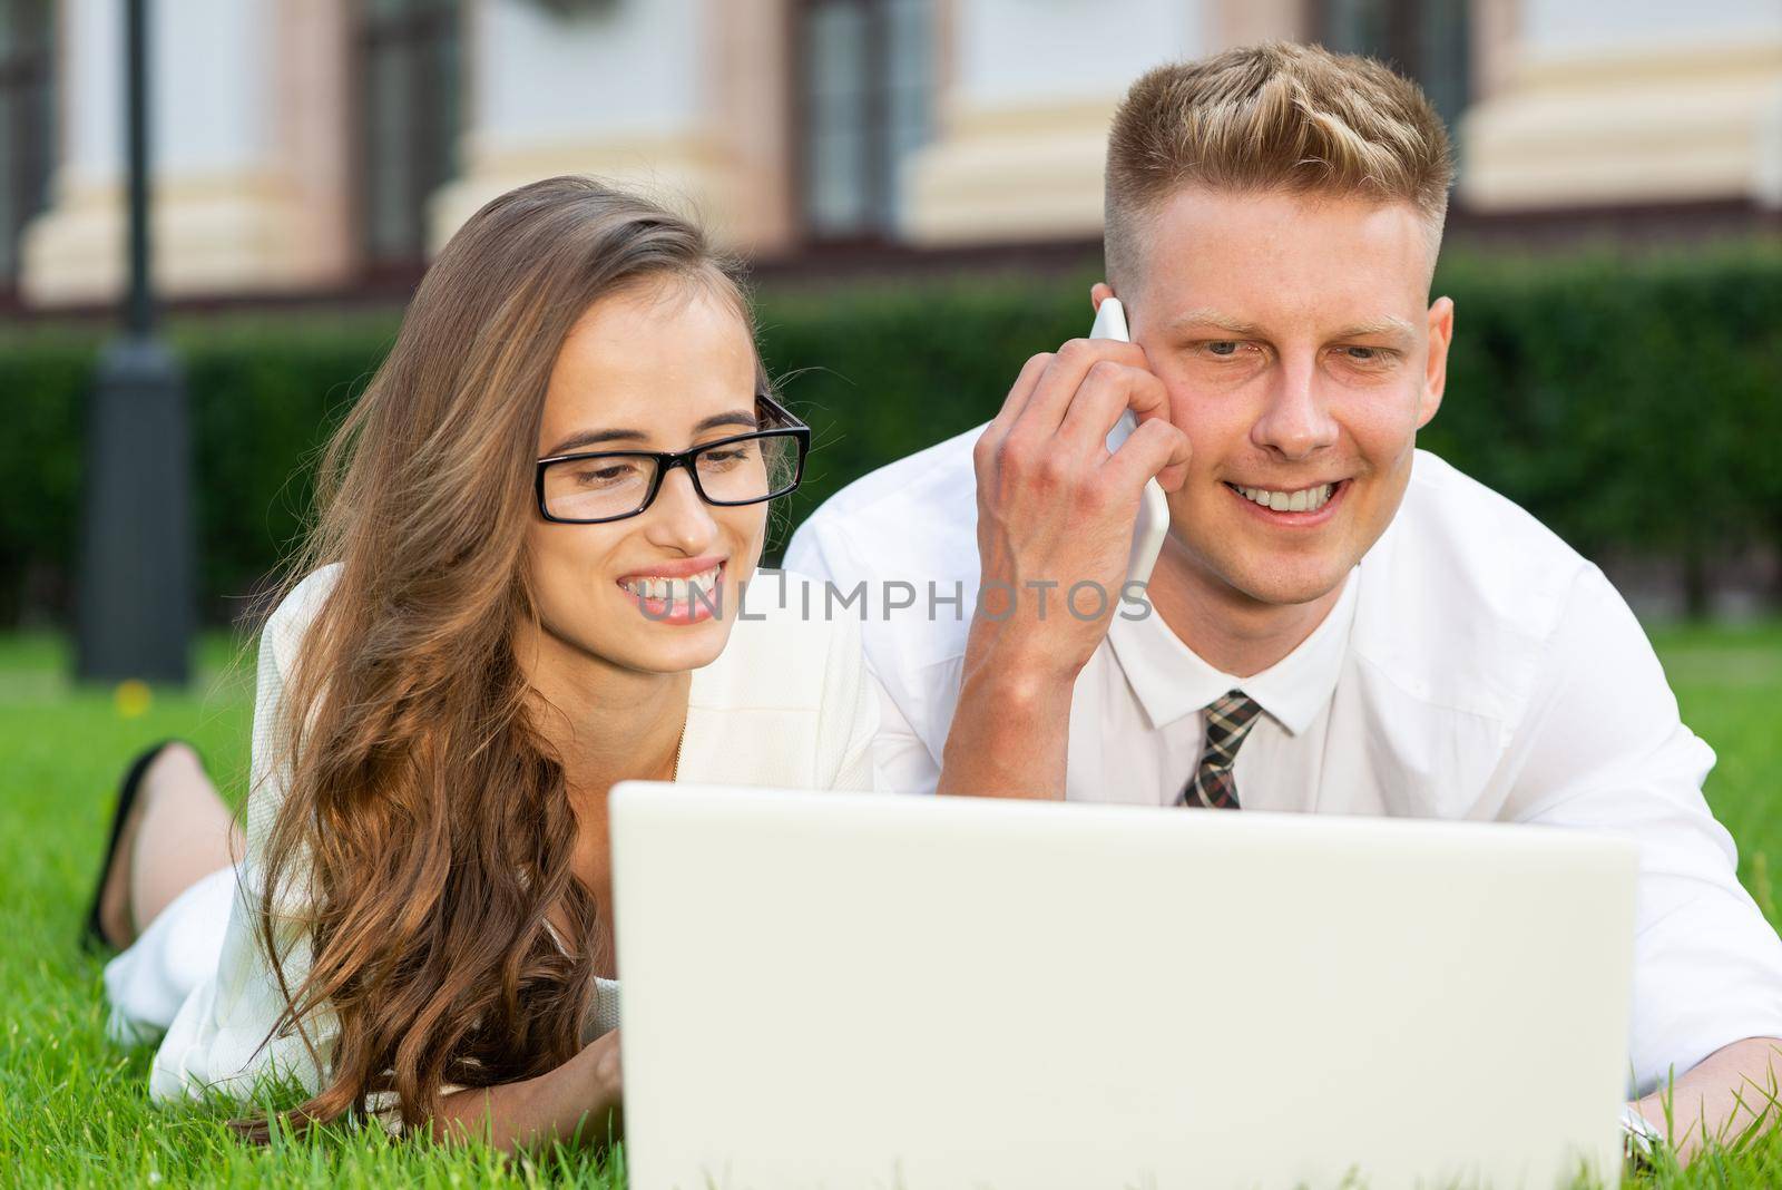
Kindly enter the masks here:
[[1524, 0], [1461, 119], [1461, 200], [1511, 212], [1753, 200], [1782, 207], [1775, 0]]

